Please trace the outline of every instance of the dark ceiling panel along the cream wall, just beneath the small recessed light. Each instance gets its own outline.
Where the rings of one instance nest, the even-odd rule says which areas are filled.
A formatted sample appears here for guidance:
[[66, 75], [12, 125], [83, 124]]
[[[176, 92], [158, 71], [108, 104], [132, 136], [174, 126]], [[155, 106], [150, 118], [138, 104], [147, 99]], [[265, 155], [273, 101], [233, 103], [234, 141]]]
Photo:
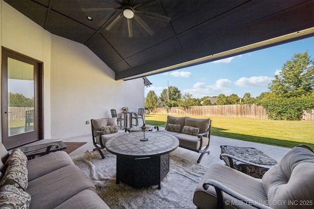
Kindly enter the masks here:
[[51, 11], [46, 29], [58, 36], [84, 44], [96, 31], [64, 15]]

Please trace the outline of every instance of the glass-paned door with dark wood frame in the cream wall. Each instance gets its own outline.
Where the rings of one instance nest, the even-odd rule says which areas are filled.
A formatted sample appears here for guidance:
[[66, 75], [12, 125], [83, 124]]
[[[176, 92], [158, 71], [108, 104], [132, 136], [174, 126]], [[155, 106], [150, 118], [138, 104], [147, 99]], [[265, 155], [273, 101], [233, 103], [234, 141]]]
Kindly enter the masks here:
[[43, 137], [42, 63], [2, 47], [2, 143], [7, 149]]

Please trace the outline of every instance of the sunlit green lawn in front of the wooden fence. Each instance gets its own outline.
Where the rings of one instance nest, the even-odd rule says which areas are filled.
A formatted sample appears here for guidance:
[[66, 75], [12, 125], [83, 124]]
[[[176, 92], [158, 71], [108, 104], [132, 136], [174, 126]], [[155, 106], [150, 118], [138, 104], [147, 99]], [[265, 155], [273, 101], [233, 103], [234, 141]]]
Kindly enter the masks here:
[[[206, 118], [208, 116], [191, 116]], [[301, 143], [314, 149], [314, 122], [238, 117], [210, 117], [211, 135], [292, 148]], [[146, 114], [149, 125], [166, 124], [167, 115]]]

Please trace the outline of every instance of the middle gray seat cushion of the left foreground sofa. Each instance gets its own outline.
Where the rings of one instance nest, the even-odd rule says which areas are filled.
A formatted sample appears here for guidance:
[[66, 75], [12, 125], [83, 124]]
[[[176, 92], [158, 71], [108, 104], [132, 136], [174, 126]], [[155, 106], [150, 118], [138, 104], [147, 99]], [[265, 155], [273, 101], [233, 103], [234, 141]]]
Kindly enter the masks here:
[[31, 196], [29, 208], [55, 208], [84, 189], [96, 193], [95, 186], [78, 166], [67, 165], [28, 182], [26, 192]]

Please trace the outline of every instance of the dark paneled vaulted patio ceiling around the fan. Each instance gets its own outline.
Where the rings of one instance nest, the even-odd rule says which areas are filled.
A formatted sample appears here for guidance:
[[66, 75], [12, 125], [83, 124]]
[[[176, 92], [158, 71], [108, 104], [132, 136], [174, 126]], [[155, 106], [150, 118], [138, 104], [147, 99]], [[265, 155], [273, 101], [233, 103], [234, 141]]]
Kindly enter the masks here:
[[[312, 28], [292, 38], [213, 56], [314, 27], [314, 0], [5, 1], [52, 34], [86, 45], [115, 71], [116, 80], [174, 70], [314, 36]], [[147, 25], [142, 26], [132, 18], [131, 38], [127, 19], [123, 15], [116, 19], [122, 12], [118, 8], [127, 4], [135, 8], [137, 17]], [[87, 16], [92, 17], [92, 21]], [[160, 16], [170, 21], [160, 20]], [[115, 19], [118, 22], [107, 30]], [[154, 34], [145, 28], [150, 28]], [[203, 57], [207, 58], [200, 59]], [[195, 59], [199, 60], [189, 63]]]

